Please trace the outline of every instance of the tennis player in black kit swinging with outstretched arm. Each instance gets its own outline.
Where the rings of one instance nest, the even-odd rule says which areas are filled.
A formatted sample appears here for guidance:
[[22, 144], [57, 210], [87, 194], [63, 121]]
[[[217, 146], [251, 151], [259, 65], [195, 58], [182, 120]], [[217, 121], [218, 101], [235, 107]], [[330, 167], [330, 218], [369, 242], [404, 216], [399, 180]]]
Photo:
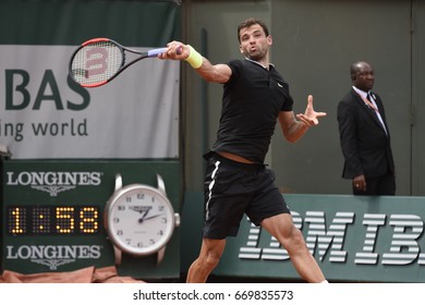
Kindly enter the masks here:
[[327, 282], [293, 224], [275, 173], [264, 163], [277, 122], [287, 141], [300, 139], [318, 124], [308, 96], [304, 113], [294, 114], [289, 85], [269, 62], [272, 38], [266, 24], [248, 19], [238, 27], [244, 59], [211, 64], [192, 46], [168, 44], [160, 59], [185, 60], [207, 82], [223, 84], [222, 112], [214, 146], [205, 155], [205, 222], [199, 256], [191, 265], [187, 282], [206, 282], [235, 236], [243, 216], [263, 227], [288, 251], [299, 274], [307, 282]]

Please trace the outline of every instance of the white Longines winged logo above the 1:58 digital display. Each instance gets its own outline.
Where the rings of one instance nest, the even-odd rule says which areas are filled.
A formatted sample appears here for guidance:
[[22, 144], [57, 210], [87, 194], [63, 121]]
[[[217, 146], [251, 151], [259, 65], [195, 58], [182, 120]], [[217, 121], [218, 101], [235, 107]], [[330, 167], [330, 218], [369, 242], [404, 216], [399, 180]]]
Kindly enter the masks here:
[[31, 186], [56, 197], [58, 193], [82, 185], [99, 185], [101, 172], [7, 172], [7, 185]]

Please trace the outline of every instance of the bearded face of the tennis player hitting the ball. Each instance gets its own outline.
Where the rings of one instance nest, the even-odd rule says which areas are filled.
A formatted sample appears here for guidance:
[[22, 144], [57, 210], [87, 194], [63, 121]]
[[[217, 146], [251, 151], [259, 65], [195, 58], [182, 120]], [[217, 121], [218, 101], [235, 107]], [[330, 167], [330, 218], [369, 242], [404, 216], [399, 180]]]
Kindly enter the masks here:
[[246, 58], [260, 61], [267, 56], [269, 46], [271, 46], [271, 36], [266, 36], [259, 24], [242, 28], [239, 32], [240, 50]]

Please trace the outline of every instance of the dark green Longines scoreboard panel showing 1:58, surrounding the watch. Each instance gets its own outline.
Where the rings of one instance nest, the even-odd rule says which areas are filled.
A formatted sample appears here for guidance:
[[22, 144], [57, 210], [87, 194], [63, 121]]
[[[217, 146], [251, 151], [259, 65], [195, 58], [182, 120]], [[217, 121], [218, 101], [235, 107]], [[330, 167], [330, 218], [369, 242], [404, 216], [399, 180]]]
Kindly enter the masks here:
[[[73, 271], [114, 264], [104, 211], [120, 173], [124, 184], [156, 186], [163, 178], [174, 210], [180, 209], [179, 161], [3, 160], [1, 269], [21, 273]], [[179, 231], [163, 261], [123, 255], [121, 276], [178, 278]]]

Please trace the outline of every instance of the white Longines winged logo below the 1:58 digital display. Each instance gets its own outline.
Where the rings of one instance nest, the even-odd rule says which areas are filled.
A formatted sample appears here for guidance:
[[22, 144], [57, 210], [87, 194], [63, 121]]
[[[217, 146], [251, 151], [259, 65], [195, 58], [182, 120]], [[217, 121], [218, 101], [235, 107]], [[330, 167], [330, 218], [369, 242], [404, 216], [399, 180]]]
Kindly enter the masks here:
[[7, 246], [7, 259], [31, 260], [46, 265], [50, 270], [71, 264], [77, 259], [98, 259], [100, 245], [21, 245], [17, 248]]

